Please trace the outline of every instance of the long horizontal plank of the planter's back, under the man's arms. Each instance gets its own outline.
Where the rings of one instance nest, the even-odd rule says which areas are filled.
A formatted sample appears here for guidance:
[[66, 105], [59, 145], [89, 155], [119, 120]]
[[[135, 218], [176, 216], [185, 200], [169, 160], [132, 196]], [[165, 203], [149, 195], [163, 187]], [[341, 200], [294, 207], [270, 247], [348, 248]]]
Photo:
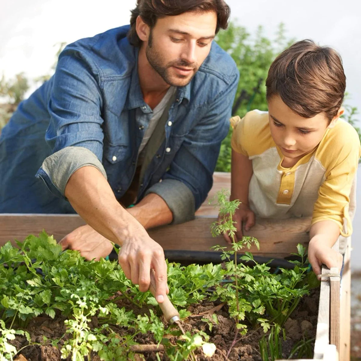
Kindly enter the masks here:
[[[213, 245], [226, 245], [222, 236], [212, 237], [210, 225], [216, 218], [197, 217], [193, 221], [179, 225], [158, 227], [149, 230], [149, 235], [165, 250], [210, 251]], [[275, 219], [256, 220], [256, 225], [245, 235], [253, 236], [260, 242], [260, 251], [251, 248], [260, 256], [283, 258], [296, 252], [297, 244], [308, 245], [310, 220]], [[8, 240], [24, 240], [29, 234], [39, 234], [43, 229], [54, 235], [56, 240], [84, 224], [78, 215], [63, 214], [1, 214], [0, 245]]]

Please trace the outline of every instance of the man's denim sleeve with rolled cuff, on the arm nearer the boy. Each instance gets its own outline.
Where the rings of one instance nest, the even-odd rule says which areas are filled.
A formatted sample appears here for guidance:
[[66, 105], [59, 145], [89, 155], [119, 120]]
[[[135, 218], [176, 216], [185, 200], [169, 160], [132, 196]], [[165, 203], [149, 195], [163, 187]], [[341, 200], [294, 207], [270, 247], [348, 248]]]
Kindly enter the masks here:
[[236, 66], [230, 78], [232, 81], [205, 110], [206, 116], [185, 136], [162, 182], [147, 191], [147, 194], [156, 193], [165, 200], [173, 213], [173, 224], [193, 219], [195, 211], [212, 188], [213, 172], [222, 140], [229, 131], [229, 118], [238, 86]]

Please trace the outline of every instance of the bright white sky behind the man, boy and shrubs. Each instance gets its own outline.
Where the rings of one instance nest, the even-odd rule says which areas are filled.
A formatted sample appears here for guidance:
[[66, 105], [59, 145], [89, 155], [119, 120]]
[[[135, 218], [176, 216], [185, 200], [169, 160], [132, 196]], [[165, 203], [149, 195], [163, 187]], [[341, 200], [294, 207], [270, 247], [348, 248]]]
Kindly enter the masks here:
[[[313, 39], [340, 52], [347, 77], [347, 103], [361, 113], [360, 0], [228, 0], [231, 19], [254, 34], [263, 25], [273, 38], [280, 22], [288, 38]], [[60, 42], [93, 36], [129, 23], [135, 0], [2, 0], [0, 12], [0, 74], [24, 71], [29, 78], [48, 73]], [[242, 76], [242, 75], [241, 75]], [[361, 119], [361, 114], [358, 116]], [[358, 171], [361, 179], [361, 170]], [[361, 187], [358, 186], [358, 204]], [[356, 219], [361, 219], [358, 207]], [[353, 266], [361, 267], [361, 223], [354, 222]]]

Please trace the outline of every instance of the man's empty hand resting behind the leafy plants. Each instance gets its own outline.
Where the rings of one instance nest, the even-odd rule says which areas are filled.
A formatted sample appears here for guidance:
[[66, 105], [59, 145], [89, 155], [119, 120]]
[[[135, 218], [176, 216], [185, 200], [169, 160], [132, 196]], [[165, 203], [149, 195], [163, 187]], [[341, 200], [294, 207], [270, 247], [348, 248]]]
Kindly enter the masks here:
[[87, 260], [100, 260], [112, 252], [113, 243], [103, 237], [89, 225], [81, 226], [70, 232], [59, 242], [64, 249], [79, 251]]

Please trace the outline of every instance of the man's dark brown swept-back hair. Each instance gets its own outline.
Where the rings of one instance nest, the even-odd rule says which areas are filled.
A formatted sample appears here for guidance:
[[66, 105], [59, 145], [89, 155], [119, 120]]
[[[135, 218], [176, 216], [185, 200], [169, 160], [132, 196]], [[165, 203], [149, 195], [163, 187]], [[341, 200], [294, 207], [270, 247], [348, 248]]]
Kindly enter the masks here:
[[230, 8], [223, 0], [137, 0], [136, 8], [131, 10], [129, 42], [139, 47], [142, 40], [139, 39], [135, 30], [135, 22], [138, 16], [152, 29], [157, 19], [166, 16], [175, 16], [188, 11], [217, 13], [216, 34], [220, 28], [226, 29]]

